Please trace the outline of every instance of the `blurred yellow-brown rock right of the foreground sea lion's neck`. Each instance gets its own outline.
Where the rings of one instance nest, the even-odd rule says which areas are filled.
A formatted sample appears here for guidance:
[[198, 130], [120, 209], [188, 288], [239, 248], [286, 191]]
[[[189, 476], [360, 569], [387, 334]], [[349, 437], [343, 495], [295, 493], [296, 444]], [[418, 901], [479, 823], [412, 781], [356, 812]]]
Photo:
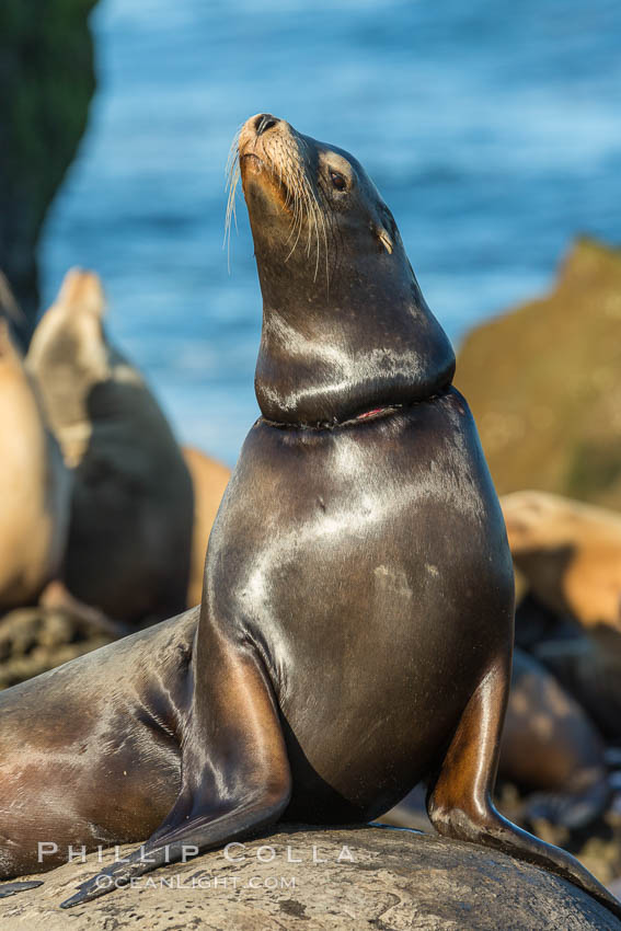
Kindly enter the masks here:
[[548, 296], [467, 337], [457, 386], [499, 494], [621, 509], [621, 251], [579, 240]]

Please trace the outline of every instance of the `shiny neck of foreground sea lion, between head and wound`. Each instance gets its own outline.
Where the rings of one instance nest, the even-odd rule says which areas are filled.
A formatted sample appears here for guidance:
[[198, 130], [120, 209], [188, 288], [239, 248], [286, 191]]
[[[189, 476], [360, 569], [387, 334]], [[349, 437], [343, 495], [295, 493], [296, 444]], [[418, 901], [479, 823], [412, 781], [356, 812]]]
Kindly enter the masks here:
[[340, 423], [450, 383], [452, 349], [413, 275], [398, 283], [337, 267], [329, 289], [269, 280], [257, 262], [265, 300], [255, 391], [267, 419]]

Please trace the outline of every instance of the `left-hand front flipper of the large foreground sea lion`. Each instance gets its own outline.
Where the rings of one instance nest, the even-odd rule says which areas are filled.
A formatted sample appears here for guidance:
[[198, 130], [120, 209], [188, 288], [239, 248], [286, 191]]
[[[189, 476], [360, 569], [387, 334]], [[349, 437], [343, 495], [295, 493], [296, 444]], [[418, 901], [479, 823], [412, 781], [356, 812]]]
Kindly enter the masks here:
[[193, 687], [183, 735], [182, 788], [174, 807], [129, 862], [114, 863], [82, 883], [62, 908], [113, 892], [165, 863], [257, 834], [287, 807], [285, 740], [271, 681], [252, 642], [199, 625], [193, 678], [198, 688]]

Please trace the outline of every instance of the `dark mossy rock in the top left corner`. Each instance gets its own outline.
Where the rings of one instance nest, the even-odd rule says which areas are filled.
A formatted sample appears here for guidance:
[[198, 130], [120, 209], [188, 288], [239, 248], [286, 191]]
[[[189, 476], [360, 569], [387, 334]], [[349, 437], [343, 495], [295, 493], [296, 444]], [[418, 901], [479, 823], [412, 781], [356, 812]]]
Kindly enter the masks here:
[[31, 327], [41, 228], [76, 154], [95, 88], [88, 24], [95, 2], [0, 3], [0, 268]]

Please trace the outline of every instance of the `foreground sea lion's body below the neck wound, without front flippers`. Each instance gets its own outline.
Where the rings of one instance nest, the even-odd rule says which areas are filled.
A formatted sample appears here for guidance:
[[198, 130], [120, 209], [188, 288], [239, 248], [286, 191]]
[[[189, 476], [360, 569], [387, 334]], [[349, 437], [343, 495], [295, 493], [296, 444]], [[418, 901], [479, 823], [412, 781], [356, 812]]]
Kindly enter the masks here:
[[[451, 475], [444, 487], [438, 461]], [[491, 532], [495, 550], [506, 551], [473, 421], [453, 389], [340, 429], [252, 428], [211, 535], [208, 610], [228, 635], [257, 644], [265, 663], [291, 768], [287, 816], [370, 820], [438, 765], [472, 679], [507, 648], [510, 623], [496, 621], [504, 612], [510, 622], [511, 568], [508, 559], [484, 559]], [[469, 541], [468, 564], [447, 578], [459, 537]], [[334, 629], [335, 612], [348, 618], [346, 629]], [[69, 843], [147, 835], [172, 807], [197, 618], [189, 611], [0, 694], [2, 797], [15, 797], [11, 773], [19, 773], [20, 792], [38, 812], [34, 827], [58, 843], [59, 858]], [[196, 663], [195, 654], [192, 675], [206, 675]], [[137, 700], [140, 719], [128, 729]], [[25, 731], [26, 742], [15, 742]], [[43, 759], [24, 786], [35, 752]], [[69, 782], [90, 790], [77, 793], [62, 826], [51, 819], [42, 832], [42, 811]], [[119, 783], [126, 805], [112, 805]], [[5, 811], [4, 836], [7, 817], [9, 836], [30, 852], [19, 872], [36, 870], [38, 835], [28, 844], [27, 824]], [[55, 862], [46, 857], [45, 865]]]

